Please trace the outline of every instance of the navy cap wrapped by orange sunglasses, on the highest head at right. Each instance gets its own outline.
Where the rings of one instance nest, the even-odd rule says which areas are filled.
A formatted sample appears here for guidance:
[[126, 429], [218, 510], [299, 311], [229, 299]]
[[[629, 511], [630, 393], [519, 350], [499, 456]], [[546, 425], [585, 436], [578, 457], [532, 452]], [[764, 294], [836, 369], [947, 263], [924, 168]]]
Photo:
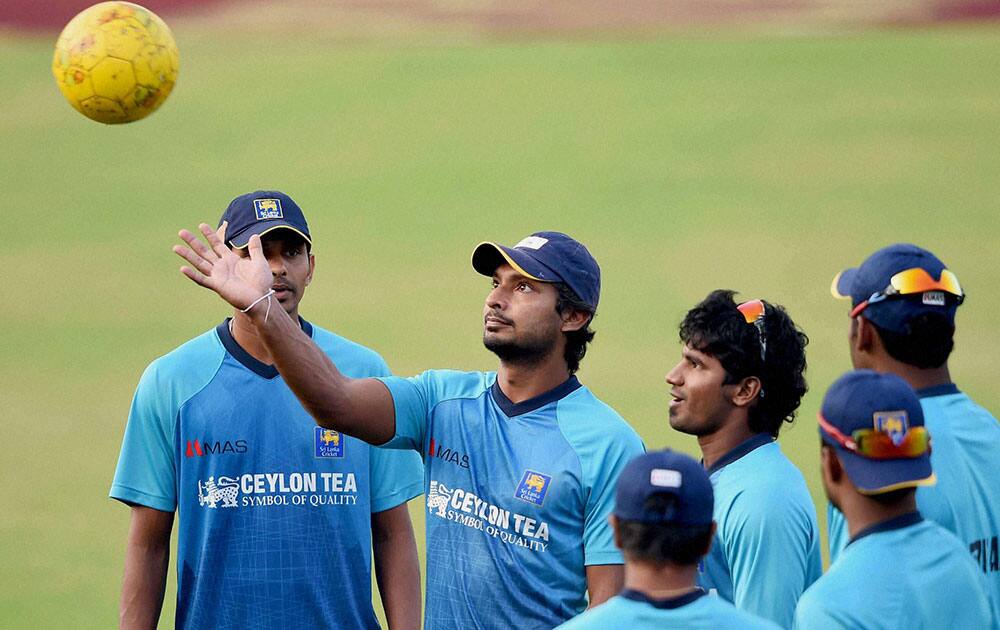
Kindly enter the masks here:
[[[946, 267], [926, 249], [908, 243], [896, 243], [878, 250], [860, 266], [841, 271], [833, 279], [830, 292], [838, 299], [850, 298], [851, 304], [857, 306], [874, 294], [885, 291], [894, 275], [914, 268], [921, 268], [937, 279]], [[910, 319], [927, 312], [943, 313], [954, 323], [958, 304], [956, 299], [923, 299], [923, 294], [898, 296], [872, 302], [865, 308], [864, 316], [880, 328], [905, 332], [906, 323]]]

